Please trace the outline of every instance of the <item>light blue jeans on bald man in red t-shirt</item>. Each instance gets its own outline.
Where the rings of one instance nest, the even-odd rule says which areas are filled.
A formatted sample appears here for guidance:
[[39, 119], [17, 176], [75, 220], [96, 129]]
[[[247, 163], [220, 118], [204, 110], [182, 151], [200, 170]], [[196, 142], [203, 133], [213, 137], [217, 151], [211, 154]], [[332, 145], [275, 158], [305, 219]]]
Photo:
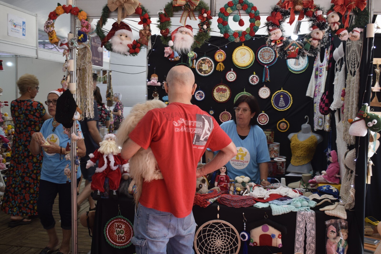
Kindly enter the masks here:
[[194, 254], [195, 231], [192, 212], [185, 218], [176, 218], [170, 212], [139, 204], [135, 210], [135, 236], [131, 241], [136, 254]]

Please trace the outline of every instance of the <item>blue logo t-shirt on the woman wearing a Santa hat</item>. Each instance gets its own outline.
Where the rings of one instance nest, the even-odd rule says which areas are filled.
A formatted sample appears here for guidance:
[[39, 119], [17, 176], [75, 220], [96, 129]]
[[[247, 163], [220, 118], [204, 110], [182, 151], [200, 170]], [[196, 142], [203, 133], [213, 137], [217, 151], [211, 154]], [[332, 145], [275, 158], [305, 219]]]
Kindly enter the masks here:
[[[69, 137], [64, 134], [64, 129], [62, 128], [62, 125], [58, 125], [56, 129], [53, 131], [53, 118], [50, 118], [46, 120], [42, 127], [41, 127], [41, 133], [45, 137], [46, 140], [51, 141], [53, 143], [56, 143], [60, 147], [66, 148], [67, 142], [71, 143]], [[79, 125], [79, 131], [81, 130], [81, 125]], [[69, 164], [69, 168], [71, 170], [70, 161], [65, 159], [64, 155], [61, 155], [59, 153], [46, 153], [42, 149], [43, 153], [43, 161], [42, 161], [42, 168], [41, 168], [41, 177], [40, 179], [54, 182], [56, 184], [64, 184], [66, 183], [66, 175], [64, 174], [64, 169], [67, 164]], [[78, 166], [77, 171], [77, 179], [81, 176], [81, 168]], [[70, 180], [69, 180], [70, 181]]]

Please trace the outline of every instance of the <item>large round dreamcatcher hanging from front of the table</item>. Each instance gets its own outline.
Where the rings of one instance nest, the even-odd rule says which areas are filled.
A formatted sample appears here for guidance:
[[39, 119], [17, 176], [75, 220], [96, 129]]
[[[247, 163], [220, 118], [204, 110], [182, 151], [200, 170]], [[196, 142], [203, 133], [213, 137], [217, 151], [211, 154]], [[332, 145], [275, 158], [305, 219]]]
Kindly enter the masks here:
[[[219, 206], [217, 206], [219, 211]], [[240, 235], [227, 221], [210, 220], [201, 225], [194, 237], [197, 254], [238, 254], [241, 248]]]

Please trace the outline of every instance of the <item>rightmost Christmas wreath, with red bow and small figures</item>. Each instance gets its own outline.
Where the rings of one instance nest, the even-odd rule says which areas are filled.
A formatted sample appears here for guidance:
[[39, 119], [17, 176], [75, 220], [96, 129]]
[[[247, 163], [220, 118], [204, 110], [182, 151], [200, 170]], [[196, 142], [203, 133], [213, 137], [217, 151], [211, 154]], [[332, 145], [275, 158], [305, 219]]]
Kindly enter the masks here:
[[[340, 40], [359, 40], [360, 33], [368, 24], [369, 12], [365, 7], [366, 2], [362, 0], [354, 1], [351, 4], [333, 1], [330, 10], [327, 12], [327, 22], [331, 35], [337, 35]], [[347, 6], [347, 7], [346, 7]], [[353, 13], [354, 19], [349, 25], [349, 15]], [[340, 22], [341, 21], [341, 22]]]

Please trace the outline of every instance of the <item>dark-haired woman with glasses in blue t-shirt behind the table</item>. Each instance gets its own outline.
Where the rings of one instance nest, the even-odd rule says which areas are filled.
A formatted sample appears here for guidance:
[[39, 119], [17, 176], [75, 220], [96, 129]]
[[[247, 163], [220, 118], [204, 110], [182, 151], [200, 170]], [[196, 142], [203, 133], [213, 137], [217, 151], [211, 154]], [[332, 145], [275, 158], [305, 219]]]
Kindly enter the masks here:
[[[267, 162], [270, 161], [270, 155], [266, 135], [256, 125], [260, 112], [258, 101], [254, 96], [242, 95], [234, 103], [234, 111], [234, 120], [220, 125], [237, 147], [237, 155], [226, 164], [226, 173], [230, 179], [248, 176], [256, 184], [267, 186], [270, 184], [267, 181]], [[206, 156], [213, 157], [210, 149]]]

